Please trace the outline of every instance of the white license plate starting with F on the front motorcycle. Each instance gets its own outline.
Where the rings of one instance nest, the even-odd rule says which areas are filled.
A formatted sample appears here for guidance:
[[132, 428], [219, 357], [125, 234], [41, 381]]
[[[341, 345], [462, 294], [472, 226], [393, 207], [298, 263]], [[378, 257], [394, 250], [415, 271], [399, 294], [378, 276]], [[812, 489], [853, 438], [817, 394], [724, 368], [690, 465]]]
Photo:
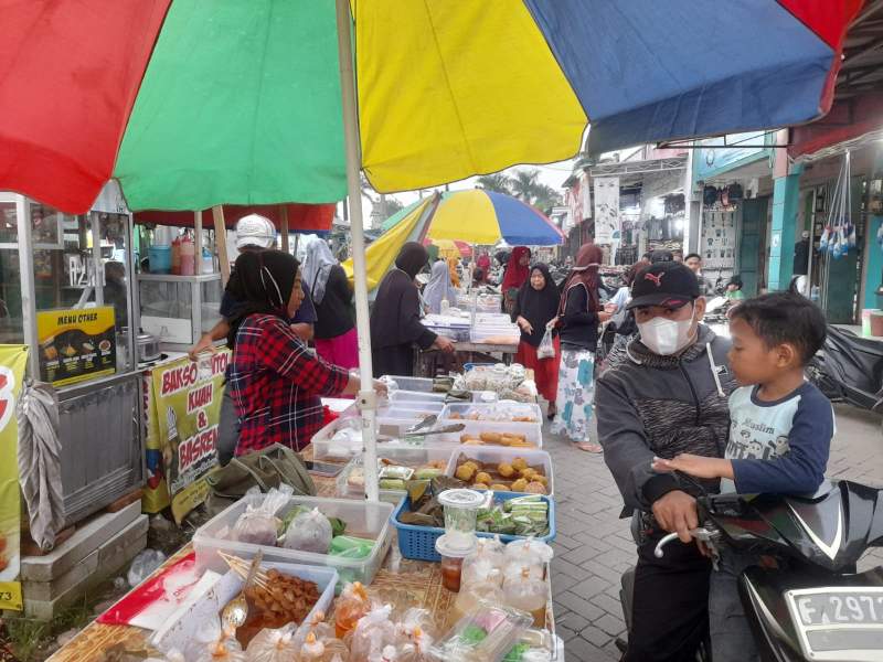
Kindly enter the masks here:
[[883, 587], [827, 587], [785, 594], [804, 655], [883, 659]]

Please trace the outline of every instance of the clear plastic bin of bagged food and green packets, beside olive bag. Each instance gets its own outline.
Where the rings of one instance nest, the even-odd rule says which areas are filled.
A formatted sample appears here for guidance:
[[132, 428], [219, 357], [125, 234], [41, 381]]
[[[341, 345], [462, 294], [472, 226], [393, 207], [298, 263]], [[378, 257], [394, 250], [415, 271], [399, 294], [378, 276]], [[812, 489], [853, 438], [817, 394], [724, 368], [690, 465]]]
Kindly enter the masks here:
[[285, 517], [285, 514], [297, 505], [310, 509], [318, 508], [327, 517], [340, 517], [343, 520], [347, 523], [347, 535], [375, 541], [374, 549], [368, 558], [352, 559], [230, 540], [230, 532], [240, 515], [245, 512], [248, 503], [260, 499], [263, 499], [263, 495], [244, 496], [196, 530], [193, 536], [193, 547], [196, 551], [196, 563], [201, 567], [224, 572], [227, 566], [219, 556], [219, 552], [251, 559], [260, 549], [264, 552], [264, 560], [266, 562], [300, 563], [332, 567], [340, 575], [341, 583], [361, 581], [368, 585], [374, 579], [374, 575], [386, 557], [392, 540], [390, 515], [394, 509], [391, 504], [352, 499], [291, 496], [288, 504], [276, 513], [276, 516]]

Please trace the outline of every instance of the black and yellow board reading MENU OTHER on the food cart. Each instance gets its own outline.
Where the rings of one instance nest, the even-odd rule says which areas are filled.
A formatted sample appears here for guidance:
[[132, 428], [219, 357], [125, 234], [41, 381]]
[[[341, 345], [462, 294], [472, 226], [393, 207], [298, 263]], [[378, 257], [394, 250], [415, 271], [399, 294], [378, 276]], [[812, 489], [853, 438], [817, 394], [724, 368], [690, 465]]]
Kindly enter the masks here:
[[117, 366], [114, 307], [36, 313], [40, 378], [54, 386], [113, 375]]

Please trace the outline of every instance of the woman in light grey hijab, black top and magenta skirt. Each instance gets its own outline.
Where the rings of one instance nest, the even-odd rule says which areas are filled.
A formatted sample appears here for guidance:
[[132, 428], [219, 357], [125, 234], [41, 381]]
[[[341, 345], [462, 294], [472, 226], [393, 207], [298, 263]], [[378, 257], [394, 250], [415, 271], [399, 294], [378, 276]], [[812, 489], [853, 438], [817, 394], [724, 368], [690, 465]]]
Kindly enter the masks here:
[[341, 367], [359, 367], [352, 290], [343, 267], [322, 239], [307, 245], [304, 284], [316, 307], [313, 343], [319, 356]]

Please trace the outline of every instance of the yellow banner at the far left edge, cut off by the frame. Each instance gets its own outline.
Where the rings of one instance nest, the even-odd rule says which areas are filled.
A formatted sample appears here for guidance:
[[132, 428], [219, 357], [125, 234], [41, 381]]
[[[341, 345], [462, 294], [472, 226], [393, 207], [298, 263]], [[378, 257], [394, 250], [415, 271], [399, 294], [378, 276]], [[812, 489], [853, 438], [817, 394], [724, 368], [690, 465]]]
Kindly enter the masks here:
[[15, 404], [21, 394], [26, 345], [0, 345], [0, 609], [20, 611], [19, 421]]

